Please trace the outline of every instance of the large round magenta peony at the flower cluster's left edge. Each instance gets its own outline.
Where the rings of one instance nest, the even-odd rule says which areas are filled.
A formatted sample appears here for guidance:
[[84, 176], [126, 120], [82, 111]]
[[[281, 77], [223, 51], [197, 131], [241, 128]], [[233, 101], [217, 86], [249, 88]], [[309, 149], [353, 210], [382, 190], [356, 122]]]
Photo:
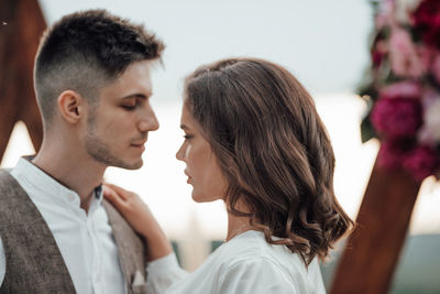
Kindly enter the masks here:
[[370, 118], [385, 138], [414, 137], [422, 123], [421, 104], [414, 98], [380, 99]]

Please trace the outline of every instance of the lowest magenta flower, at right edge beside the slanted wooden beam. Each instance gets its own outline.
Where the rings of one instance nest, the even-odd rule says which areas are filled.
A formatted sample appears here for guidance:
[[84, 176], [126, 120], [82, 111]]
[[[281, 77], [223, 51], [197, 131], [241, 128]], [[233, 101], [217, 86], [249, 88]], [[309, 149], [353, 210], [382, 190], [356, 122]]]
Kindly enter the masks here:
[[436, 170], [439, 167], [439, 160], [432, 149], [421, 145], [408, 153], [404, 160], [404, 167], [414, 178], [421, 182], [436, 173]]

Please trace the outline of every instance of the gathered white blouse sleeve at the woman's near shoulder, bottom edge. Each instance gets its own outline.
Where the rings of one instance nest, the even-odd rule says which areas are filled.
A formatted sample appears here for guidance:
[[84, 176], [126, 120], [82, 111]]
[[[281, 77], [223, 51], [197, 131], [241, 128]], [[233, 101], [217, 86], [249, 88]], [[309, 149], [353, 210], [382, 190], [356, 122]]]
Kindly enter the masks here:
[[295, 294], [299, 291], [282, 269], [270, 260], [240, 261], [219, 280], [218, 293], [229, 294]]

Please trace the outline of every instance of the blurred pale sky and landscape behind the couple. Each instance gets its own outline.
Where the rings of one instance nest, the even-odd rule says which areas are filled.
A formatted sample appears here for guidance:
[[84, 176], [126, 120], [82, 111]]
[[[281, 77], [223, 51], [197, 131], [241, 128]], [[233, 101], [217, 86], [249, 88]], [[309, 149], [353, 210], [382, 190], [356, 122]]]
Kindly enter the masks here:
[[[183, 266], [197, 268], [219, 244], [213, 241], [226, 237], [222, 203], [194, 203], [185, 166], [175, 159], [183, 142], [183, 78], [219, 58], [266, 58], [287, 67], [306, 86], [333, 143], [337, 196], [355, 219], [378, 150], [377, 141], [361, 143], [359, 126], [366, 105], [355, 95], [370, 65], [369, 1], [40, 0], [40, 6], [47, 24], [74, 11], [105, 8], [143, 23], [166, 43], [164, 65], [153, 72], [151, 100], [161, 128], [148, 137], [144, 166], [109, 168], [106, 178], [142, 196], [174, 241]], [[1, 167], [13, 167], [20, 156], [32, 153], [26, 128], [19, 122]], [[417, 198], [392, 293], [440, 293], [439, 209], [440, 185], [429, 177]], [[327, 283], [336, 261], [323, 268]]]

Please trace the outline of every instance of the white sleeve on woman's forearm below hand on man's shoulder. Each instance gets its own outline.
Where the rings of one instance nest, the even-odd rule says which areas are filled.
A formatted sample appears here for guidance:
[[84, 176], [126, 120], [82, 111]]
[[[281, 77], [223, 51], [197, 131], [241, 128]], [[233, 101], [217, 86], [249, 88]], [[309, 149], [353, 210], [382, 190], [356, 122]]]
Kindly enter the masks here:
[[188, 275], [188, 272], [178, 265], [174, 252], [150, 262], [146, 273], [146, 287], [151, 294], [165, 293], [172, 284]]

